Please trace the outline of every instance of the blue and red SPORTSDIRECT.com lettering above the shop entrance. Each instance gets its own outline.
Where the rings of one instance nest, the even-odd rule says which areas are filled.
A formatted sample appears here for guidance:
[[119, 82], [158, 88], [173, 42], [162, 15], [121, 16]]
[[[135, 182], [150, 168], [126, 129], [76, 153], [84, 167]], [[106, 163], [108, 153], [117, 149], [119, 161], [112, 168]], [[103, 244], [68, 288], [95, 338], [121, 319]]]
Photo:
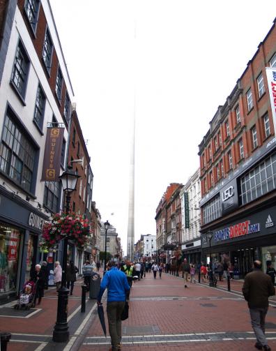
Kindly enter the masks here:
[[233, 239], [236, 237], [241, 237], [243, 235], [256, 233], [260, 230], [260, 223], [250, 224], [250, 221], [244, 221], [242, 223], [232, 225], [231, 227], [218, 230], [217, 232], [215, 232], [214, 240], [222, 241], [227, 239]]

